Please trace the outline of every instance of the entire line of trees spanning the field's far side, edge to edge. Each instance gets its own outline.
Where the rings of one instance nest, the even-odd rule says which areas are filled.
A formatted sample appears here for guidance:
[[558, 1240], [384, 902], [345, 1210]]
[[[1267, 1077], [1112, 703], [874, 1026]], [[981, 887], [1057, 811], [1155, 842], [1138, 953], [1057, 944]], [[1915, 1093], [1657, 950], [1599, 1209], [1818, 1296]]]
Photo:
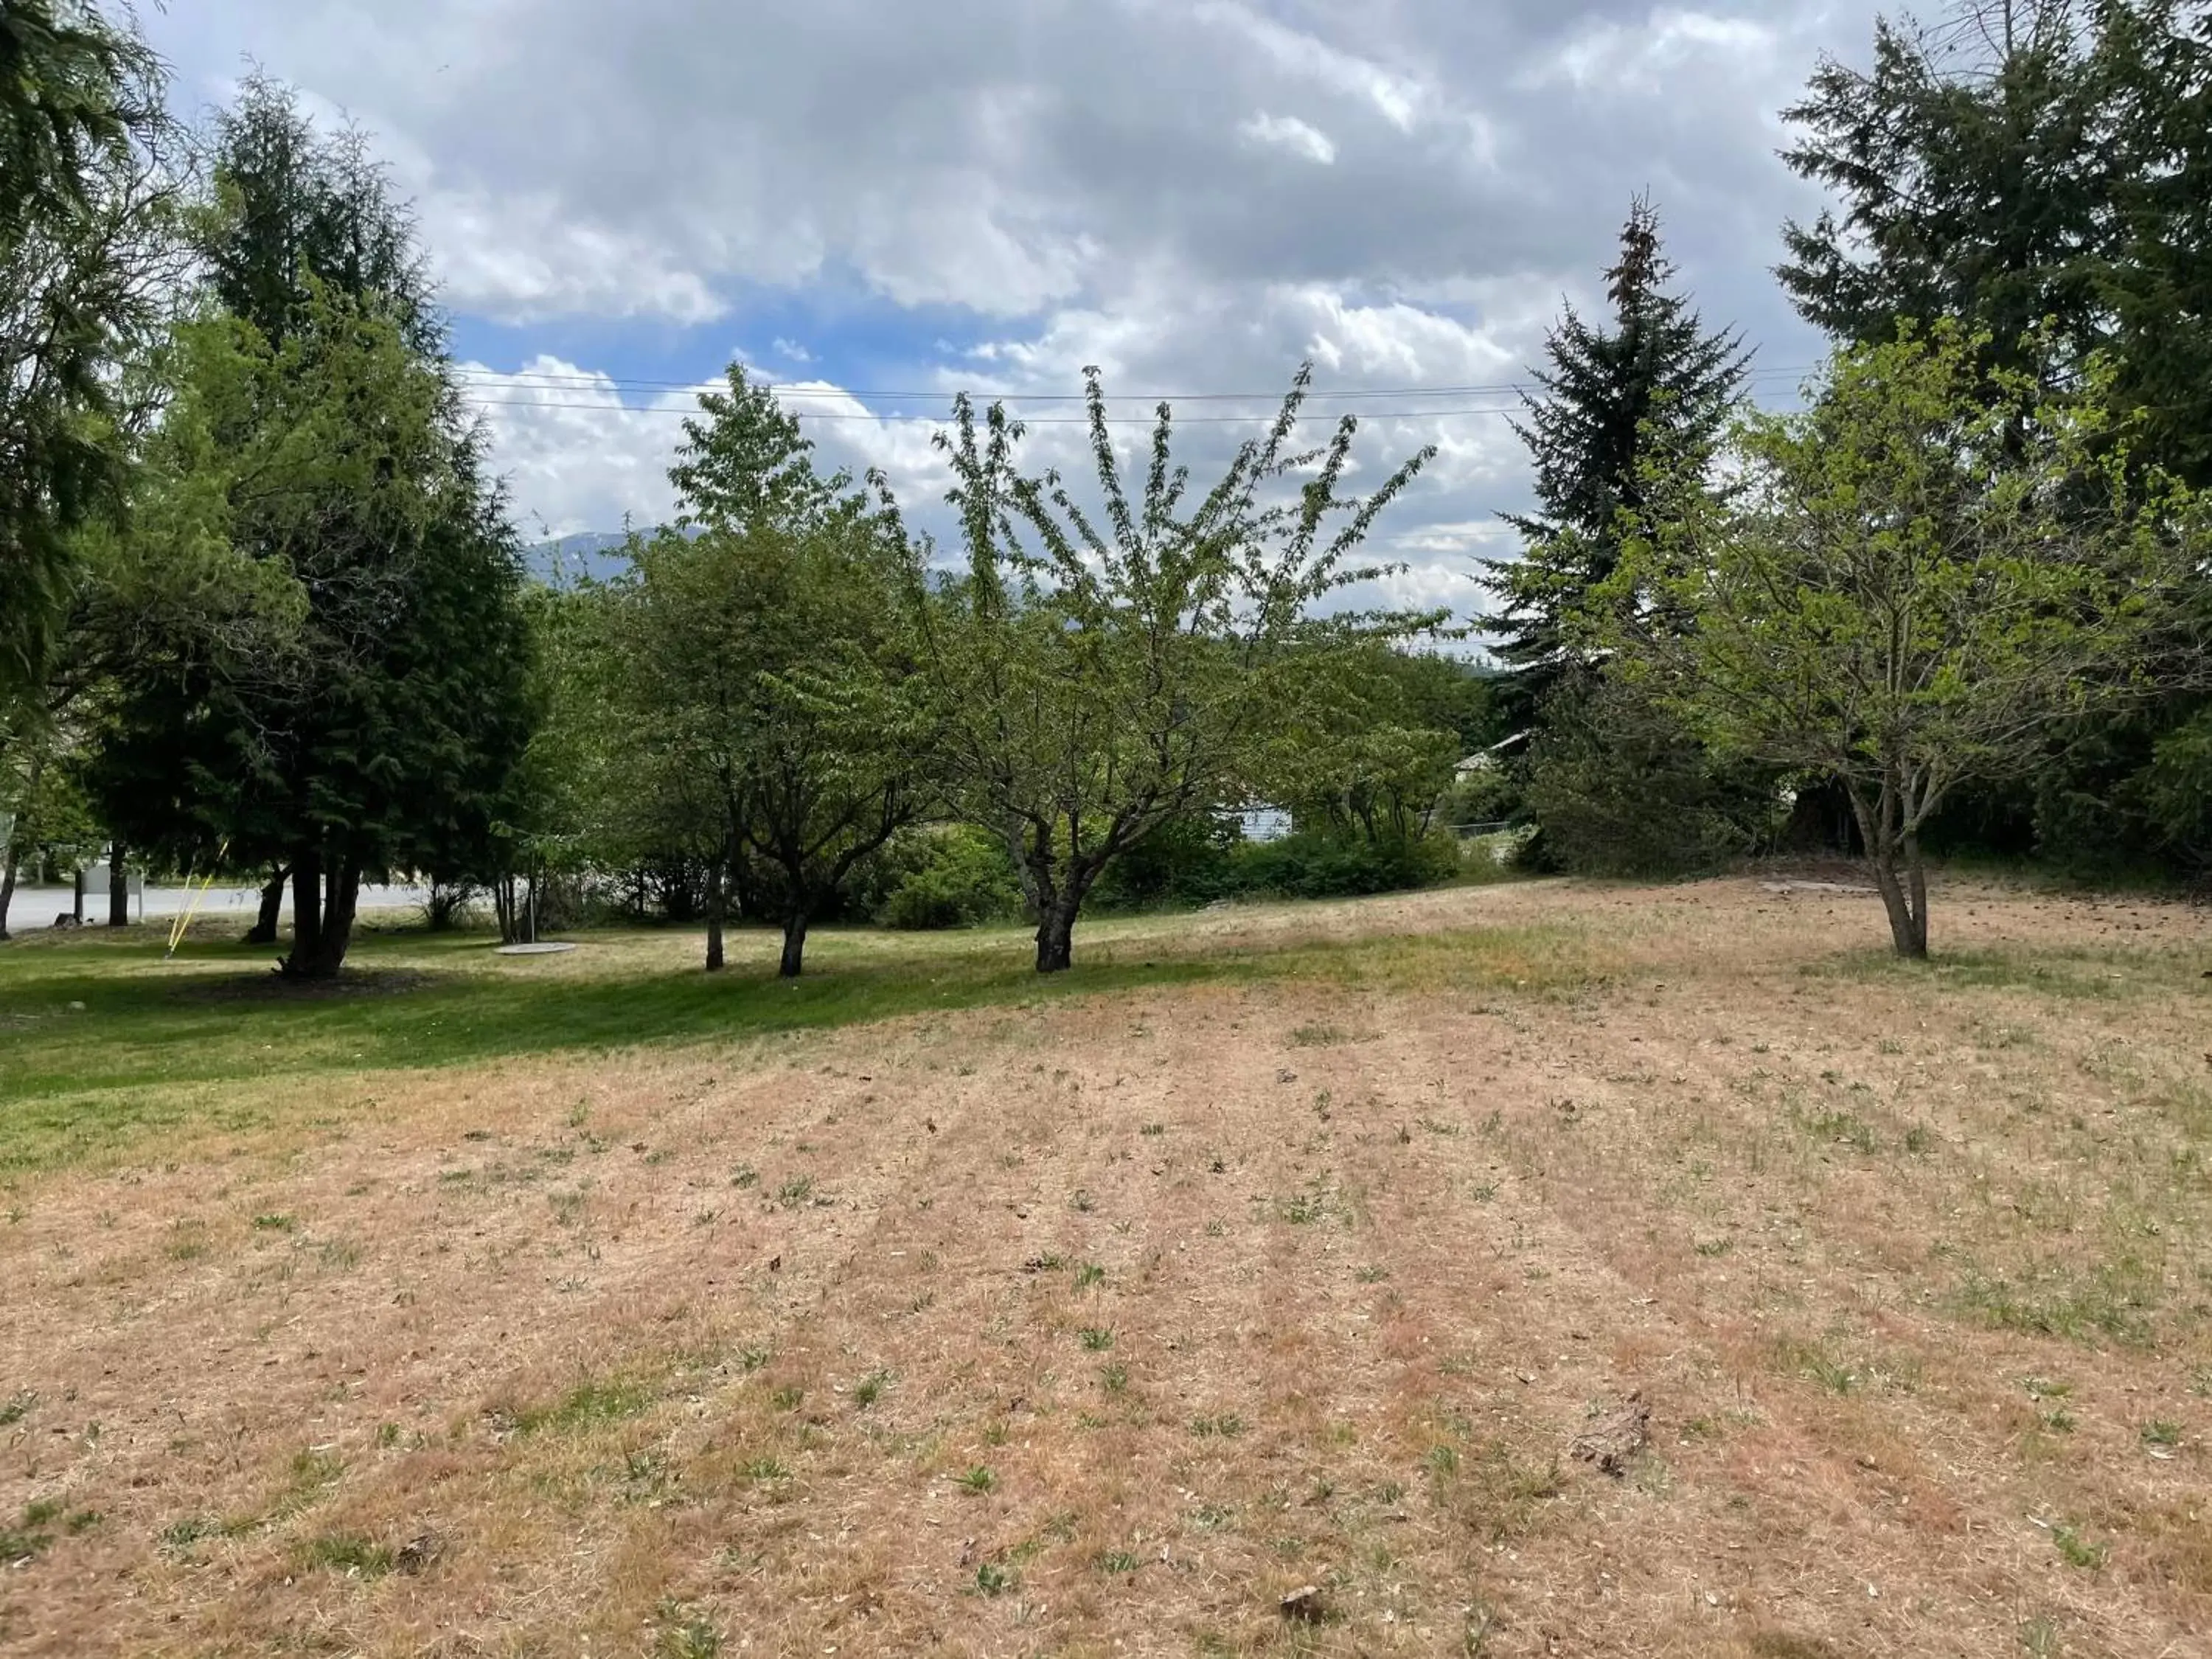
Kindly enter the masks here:
[[1778, 276], [1836, 352], [1794, 414], [1747, 407], [1637, 201], [1528, 398], [1475, 672], [1420, 648], [1449, 617], [1354, 604], [1427, 453], [1349, 493], [1305, 372], [1214, 480], [1166, 407], [1130, 467], [1093, 374], [1082, 491], [962, 398], [936, 546], [732, 367], [675, 522], [540, 584], [365, 137], [265, 80], [186, 131], [126, 22], [9, 0], [0, 931], [27, 858], [108, 845], [250, 872], [261, 942], [290, 891], [299, 978], [396, 872], [509, 936], [584, 896], [703, 920], [710, 969], [768, 920], [785, 973], [823, 918], [1018, 905], [1055, 971], [1086, 902], [1228, 880], [1248, 803], [1296, 814], [1267, 880], [1310, 891], [1449, 869], [1440, 812], [1657, 872], [1827, 801], [1907, 953], [1929, 847], [2201, 874], [2208, 64], [2179, 0], [1978, 4], [1823, 64], [1787, 161], [1834, 208]]

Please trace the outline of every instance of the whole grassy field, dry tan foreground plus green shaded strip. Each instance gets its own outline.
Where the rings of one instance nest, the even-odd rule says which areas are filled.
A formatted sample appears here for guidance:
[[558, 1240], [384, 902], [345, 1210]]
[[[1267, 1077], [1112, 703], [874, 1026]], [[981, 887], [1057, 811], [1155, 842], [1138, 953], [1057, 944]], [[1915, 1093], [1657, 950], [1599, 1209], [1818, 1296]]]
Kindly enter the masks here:
[[2212, 1652], [2208, 918], [1936, 929], [4, 947], [0, 1650]]

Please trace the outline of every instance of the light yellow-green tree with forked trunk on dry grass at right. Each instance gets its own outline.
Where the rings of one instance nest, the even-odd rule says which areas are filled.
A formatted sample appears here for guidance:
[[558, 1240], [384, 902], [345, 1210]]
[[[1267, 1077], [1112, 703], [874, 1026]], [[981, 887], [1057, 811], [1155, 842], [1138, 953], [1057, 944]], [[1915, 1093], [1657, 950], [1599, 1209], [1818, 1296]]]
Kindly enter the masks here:
[[1909, 958], [1929, 814], [2179, 672], [2150, 644], [2201, 546], [2199, 504], [2130, 467], [2097, 398], [2037, 403], [1984, 361], [1949, 325], [1838, 352], [1803, 411], [1741, 420], [1734, 495], [1674, 491], [1601, 606], [1624, 670], [1710, 743], [1843, 783]]

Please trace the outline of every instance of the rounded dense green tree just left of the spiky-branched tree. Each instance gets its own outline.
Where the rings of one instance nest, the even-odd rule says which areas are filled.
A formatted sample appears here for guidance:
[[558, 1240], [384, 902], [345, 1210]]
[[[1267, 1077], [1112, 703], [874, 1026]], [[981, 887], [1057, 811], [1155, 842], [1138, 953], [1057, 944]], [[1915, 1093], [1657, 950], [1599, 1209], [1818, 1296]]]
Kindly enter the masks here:
[[624, 750], [708, 860], [708, 969], [726, 891], [783, 927], [796, 978], [807, 927], [863, 858], [929, 803], [929, 723], [898, 520], [821, 476], [799, 422], [730, 369], [670, 478], [681, 529], [633, 544], [615, 584]]

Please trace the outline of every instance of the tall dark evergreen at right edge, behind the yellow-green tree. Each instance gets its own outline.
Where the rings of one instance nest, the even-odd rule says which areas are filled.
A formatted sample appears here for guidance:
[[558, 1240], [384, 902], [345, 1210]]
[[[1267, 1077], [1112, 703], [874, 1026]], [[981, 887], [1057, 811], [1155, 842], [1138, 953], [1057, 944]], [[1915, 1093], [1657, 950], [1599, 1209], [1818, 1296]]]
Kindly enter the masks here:
[[[1785, 159], [1836, 197], [1783, 230], [1807, 321], [1858, 345], [1955, 321], [1984, 367], [2108, 385], [2143, 467], [2212, 487], [2212, 4], [1958, 0], [1929, 27], [1878, 22], [1871, 69], [1825, 60], [1787, 117]], [[2197, 611], [2212, 626], [2212, 580]], [[2201, 869], [2172, 779], [2212, 787], [2185, 759], [2208, 721], [2174, 677], [2148, 708], [2055, 728], [2033, 783], [1958, 812], [2033, 823], [2066, 863]]]

